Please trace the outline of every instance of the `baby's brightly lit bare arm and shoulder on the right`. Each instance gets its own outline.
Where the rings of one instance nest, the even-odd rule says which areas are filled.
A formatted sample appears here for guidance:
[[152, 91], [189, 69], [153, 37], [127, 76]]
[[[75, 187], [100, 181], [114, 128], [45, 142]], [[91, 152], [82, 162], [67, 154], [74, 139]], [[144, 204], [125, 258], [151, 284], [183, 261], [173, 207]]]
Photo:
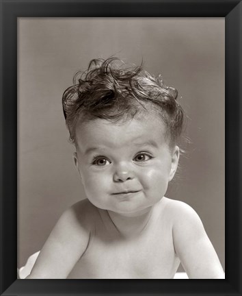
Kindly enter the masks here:
[[223, 279], [224, 271], [198, 214], [183, 201], [164, 200], [174, 249], [189, 278]]

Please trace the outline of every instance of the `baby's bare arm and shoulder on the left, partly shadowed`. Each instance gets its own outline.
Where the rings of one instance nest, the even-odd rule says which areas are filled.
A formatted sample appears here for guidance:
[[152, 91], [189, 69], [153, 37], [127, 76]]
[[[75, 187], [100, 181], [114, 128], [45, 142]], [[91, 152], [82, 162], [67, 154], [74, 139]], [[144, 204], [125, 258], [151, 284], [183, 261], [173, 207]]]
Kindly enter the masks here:
[[65, 210], [44, 243], [28, 278], [66, 278], [88, 247], [95, 215], [96, 208], [88, 200]]

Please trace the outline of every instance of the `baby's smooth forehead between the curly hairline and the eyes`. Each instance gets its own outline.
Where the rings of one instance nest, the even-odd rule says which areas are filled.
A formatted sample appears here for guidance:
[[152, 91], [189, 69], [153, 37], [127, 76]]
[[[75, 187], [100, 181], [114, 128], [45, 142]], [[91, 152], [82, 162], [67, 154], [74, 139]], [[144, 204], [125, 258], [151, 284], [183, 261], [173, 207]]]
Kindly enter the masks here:
[[[110, 121], [93, 119], [80, 122], [76, 130], [77, 144], [83, 149], [88, 146], [107, 146], [118, 149], [125, 145], [161, 145], [166, 138], [166, 127], [157, 114], [135, 115], [133, 119]], [[155, 144], [154, 144], [155, 145]]]

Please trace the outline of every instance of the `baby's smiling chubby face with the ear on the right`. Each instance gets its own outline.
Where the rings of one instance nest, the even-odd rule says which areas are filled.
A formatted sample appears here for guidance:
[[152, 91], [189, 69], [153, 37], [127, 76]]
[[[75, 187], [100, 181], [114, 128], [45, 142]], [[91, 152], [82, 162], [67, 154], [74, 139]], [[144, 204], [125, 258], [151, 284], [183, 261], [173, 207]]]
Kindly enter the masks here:
[[153, 112], [125, 123], [95, 119], [77, 126], [75, 164], [94, 206], [134, 214], [165, 195], [179, 158]]

